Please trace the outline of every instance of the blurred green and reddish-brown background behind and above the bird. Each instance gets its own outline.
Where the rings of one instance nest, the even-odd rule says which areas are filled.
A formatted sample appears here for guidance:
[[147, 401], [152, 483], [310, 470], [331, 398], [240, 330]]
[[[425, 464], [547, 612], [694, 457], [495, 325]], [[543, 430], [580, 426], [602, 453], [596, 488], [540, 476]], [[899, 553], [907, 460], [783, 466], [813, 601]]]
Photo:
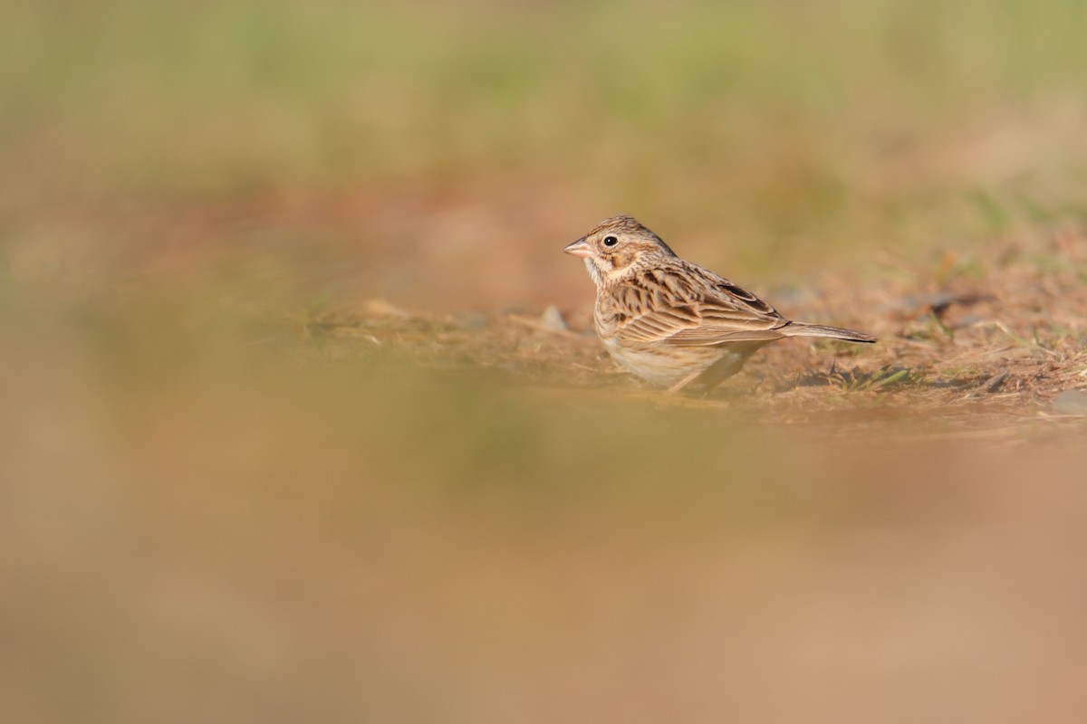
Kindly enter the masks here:
[[[501, 244], [533, 259], [515, 274], [547, 278], [563, 240], [619, 212], [737, 276], [794, 279], [1087, 214], [1074, 0], [2, 13], [9, 245], [66, 234], [97, 254], [148, 236], [134, 215], [162, 234], [177, 217], [278, 209], [302, 227], [280, 232], [329, 265], [422, 245], [420, 274], [370, 281], [437, 303], [457, 297], [433, 290], [435, 257], [485, 264]], [[457, 218], [416, 218], [449, 206]], [[253, 233], [208, 226], [222, 244]], [[516, 301], [544, 301], [546, 283], [525, 282]], [[517, 289], [495, 284], [472, 301]]]

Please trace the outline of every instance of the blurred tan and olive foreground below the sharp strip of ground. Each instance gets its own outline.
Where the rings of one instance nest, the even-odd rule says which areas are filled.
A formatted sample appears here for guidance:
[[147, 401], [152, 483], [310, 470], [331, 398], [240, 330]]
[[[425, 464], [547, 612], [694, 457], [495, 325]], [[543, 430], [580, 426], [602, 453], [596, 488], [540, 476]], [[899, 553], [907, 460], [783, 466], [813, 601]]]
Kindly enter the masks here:
[[787, 424], [48, 299], [0, 306], [9, 721], [1087, 713], [1082, 424], [919, 439], [909, 390]]

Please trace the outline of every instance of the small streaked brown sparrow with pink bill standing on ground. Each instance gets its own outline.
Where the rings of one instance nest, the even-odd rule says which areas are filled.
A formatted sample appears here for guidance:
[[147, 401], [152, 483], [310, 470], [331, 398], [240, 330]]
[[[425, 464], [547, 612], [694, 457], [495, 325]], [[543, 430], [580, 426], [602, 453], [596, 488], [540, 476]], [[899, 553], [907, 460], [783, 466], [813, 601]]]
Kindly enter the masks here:
[[691, 382], [710, 391], [759, 347], [786, 336], [876, 341], [789, 321], [751, 292], [683, 261], [630, 216], [604, 219], [564, 251], [583, 257], [596, 282], [594, 318], [604, 347], [620, 366], [669, 392]]

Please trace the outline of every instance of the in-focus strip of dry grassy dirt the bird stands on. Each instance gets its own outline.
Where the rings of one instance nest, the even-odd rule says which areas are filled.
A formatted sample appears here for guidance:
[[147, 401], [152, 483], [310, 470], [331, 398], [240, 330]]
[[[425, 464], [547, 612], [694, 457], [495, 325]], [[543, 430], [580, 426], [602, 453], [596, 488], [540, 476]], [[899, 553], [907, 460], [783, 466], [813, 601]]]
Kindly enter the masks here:
[[791, 318], [866, 330], [876, 345], [775, 343], [709, 395], [665, 395], [612, 363], [591, 328], [588, 279], [576, 306], [425, 314], [372, 300], [296, 323], [311, 352], [388, 352], [572, 401], [736, 409], [836, 435], [888, 420], [912, 435], [1009, 443], [1077, 428], [1087, 415], [1087, 236], [947, 254], [935, 270], [886, 255], [878, 264], [883, 280], [824, 277], [819, 289], [765, 292]]

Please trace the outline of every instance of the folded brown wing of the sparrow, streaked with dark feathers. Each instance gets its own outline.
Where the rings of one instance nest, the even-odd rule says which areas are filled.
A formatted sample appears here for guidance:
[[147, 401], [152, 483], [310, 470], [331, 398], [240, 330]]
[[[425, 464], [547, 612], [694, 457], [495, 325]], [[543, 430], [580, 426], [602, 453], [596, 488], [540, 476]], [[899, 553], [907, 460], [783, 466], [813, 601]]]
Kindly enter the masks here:
[[612, 300], [619, 332], [636, 344], [769, 342], [789, 323], [751, 292], [686, 263], [637, 275], [616, 288]]

